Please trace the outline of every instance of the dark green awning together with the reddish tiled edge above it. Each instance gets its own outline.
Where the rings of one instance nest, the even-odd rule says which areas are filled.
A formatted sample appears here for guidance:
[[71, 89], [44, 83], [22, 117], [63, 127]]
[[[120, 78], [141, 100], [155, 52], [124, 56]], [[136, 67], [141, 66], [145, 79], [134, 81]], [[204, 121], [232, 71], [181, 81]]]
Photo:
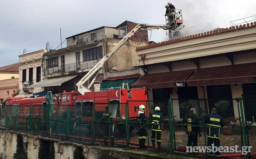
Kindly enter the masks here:
[[[122, 88], [122, 83], [128, 83], [128, 86], [131, 87], [132, 84], [134, 82], [136, 82], [138, 79], [139, 79], [139, 74], [106, 78], [100, 84], [100, 89], [106, 89], [106, 88], [111, 88], [111, 87], [113, 87], [113, 88], [121, 87]], [[126, 88], [126, 85], [125, 85], [125, 88]]]

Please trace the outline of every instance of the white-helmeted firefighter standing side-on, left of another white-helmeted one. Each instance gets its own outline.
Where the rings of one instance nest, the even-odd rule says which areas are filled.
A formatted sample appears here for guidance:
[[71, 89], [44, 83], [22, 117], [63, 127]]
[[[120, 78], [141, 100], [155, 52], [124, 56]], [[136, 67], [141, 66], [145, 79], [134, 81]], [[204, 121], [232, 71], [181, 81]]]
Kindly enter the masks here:
[[139, 106], [139, 112], [137, 115], [138, 129], [139, 129], [139, 148], [147, 148], [145, 142], [147, 139], [147, 127], [146, 127], [146, 115], [144, 113], [145, 106]]

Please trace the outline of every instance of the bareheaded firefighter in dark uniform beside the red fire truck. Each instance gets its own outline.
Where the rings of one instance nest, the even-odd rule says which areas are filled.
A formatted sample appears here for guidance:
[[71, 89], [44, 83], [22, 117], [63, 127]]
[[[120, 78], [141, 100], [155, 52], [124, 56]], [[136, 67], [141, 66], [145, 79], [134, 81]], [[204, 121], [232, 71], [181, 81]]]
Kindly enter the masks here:
[[111, 146], [114, 146], [114, 136], [112, 128], [114, 126], [113, 124], [113, 117], [112, 114], [109, 112], [109, 107], [105, 107], [106, 111], [102, 114], [102, 122], [110, 122], [110, 123], [104, 123], [104, 144], [107, 144], [107, 137], [110, 133], [110, 140], [111, 140]]

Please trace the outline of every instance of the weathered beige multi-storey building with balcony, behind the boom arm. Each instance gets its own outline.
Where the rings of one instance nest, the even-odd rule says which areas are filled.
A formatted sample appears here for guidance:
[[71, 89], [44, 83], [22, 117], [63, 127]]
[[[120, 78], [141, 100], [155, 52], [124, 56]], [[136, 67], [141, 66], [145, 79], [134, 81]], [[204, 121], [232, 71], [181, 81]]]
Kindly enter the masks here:
[[[45, 87], [45, 90], [58, 90], [59, 92], [77, 90], [75, 84], [136, 25], [134, 22], [125, 21], [117, 27], [103, 26], [67, 37], [66, 48], [50, 50], [43, 55], [44, 80], [29, 87]], [[139, 65], [136, 60], [136, 47], [145, 44], [148, 44], [147, 31], [138, 30], [134, 37], [105, 62], [96, 81], [101, 83], [102, 80], [111, 76], [107, 72], [114, 72], [114, 70], [115, 76], [134, 74], [132, 66]], [[139, 73], [138, 69], [136, 73]], [[92, 78], [85, 85], [88, 85], [91, 80]]]

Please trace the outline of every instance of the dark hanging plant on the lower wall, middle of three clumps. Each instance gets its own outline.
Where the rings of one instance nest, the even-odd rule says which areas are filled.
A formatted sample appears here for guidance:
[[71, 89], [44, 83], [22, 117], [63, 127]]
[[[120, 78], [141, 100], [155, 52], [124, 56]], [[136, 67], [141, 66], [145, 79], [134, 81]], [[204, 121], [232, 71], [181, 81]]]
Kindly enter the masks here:
[[39, 147], [38, 159], [54, 159], [54, 152], [53, 142], [42, 140]]

